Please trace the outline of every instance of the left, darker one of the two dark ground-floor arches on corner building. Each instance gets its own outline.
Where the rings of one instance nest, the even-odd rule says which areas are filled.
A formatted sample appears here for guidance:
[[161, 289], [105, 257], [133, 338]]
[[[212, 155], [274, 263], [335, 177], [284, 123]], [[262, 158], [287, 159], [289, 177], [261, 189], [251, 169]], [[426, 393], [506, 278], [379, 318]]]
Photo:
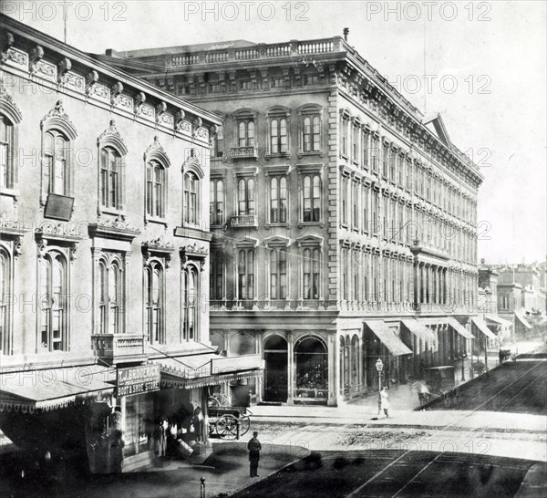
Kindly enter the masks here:
[[264, 344], [264, 401], [287, 400], [287, 341], [281, 336], [268, 337]]

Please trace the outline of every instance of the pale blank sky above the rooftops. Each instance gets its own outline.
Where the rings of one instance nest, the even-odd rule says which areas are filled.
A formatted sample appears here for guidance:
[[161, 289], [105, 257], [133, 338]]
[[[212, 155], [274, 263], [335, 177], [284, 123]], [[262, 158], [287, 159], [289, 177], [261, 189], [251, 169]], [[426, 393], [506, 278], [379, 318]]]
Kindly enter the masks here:
[[485, 177], [479, 258], [544, 261], [544, 1], [182, 2], [2, 0], [0, 11], [80, 50], [131, 50], [230, 39], [276, 43], [342, 35], [427, 115]]

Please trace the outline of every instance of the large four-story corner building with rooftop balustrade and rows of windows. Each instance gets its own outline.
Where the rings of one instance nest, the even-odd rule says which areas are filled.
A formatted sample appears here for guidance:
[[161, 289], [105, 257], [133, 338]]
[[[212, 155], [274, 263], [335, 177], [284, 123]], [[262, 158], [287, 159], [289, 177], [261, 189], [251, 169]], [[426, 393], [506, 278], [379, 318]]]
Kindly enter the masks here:
[[345, 39], [99, 58], [224, 120], [212, 343], [265, 359], [263, 384], [233, 397], [336, 405], [377, 389], [378, 357], [405, 381], [466, 354], [482, 176]]

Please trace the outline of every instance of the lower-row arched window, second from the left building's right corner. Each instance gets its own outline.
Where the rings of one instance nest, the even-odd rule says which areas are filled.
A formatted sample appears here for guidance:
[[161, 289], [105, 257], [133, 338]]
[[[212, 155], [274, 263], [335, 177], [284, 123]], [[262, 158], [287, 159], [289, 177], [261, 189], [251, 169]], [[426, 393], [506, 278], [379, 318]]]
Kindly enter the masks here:
[[158, 261], [151, 262], [145, 275], [145, 329], [150, 343], [165, 343], [164, 285], [163, 266]]

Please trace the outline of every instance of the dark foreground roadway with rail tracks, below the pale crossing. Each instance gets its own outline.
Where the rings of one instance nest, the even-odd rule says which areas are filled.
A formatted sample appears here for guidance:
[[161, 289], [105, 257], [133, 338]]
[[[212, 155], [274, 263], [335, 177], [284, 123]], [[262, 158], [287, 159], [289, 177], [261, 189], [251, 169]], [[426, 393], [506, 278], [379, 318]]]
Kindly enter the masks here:
[[233, 498], [514, 496], [535, 462], [432, 451], [325, 451]]

